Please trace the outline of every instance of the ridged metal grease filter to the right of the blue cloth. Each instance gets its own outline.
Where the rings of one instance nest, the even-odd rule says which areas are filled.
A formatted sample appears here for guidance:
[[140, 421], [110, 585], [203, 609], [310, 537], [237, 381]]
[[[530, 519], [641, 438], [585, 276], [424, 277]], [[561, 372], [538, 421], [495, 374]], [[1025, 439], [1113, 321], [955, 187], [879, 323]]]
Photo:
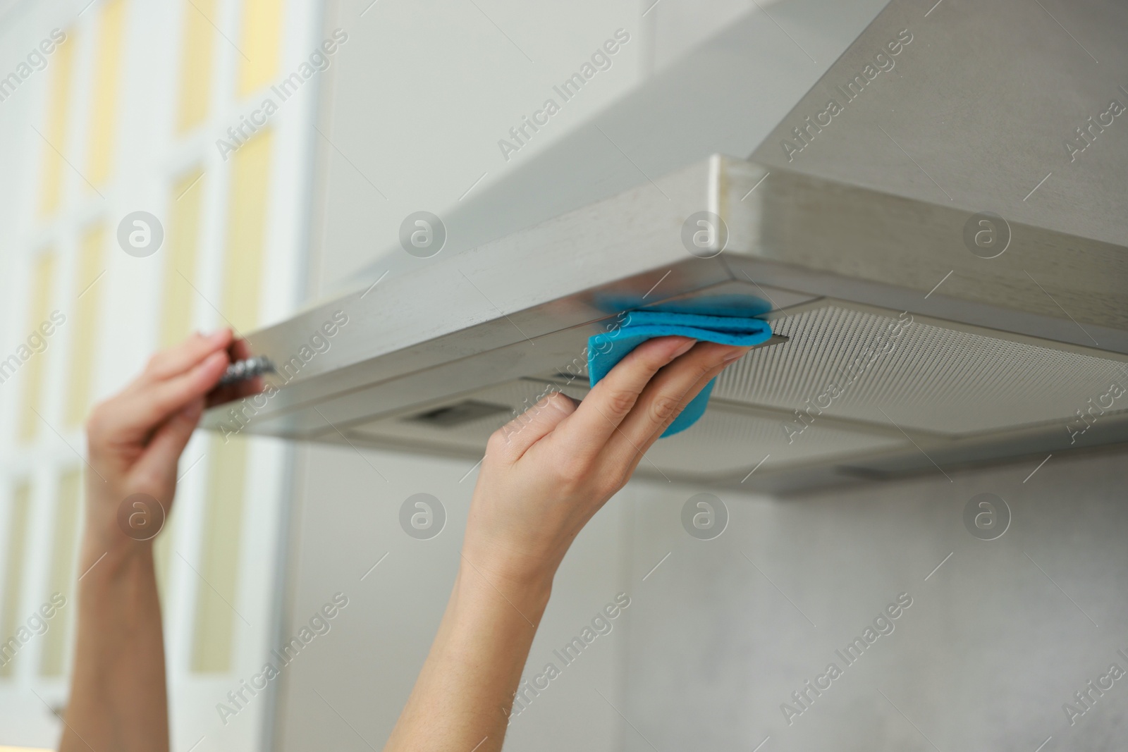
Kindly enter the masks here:
[[[905, 319], [908, 320], [907, 318]], [[754, 350], [714, 397], [941, 434], [1066, 421], [1128, 387], [1120, 361], [827, 306], [772, 321], [786, 343]], [[882, 353], [883, 348], [888, 352]], [[832, 388], [837, 387], [837, 389]], [[1107, 401], [1107, 399], [1105, 399]], [[1121, 397], [1111, 412], [1123, 412]], [[882, 414], [884, 410], [884, 414]]]

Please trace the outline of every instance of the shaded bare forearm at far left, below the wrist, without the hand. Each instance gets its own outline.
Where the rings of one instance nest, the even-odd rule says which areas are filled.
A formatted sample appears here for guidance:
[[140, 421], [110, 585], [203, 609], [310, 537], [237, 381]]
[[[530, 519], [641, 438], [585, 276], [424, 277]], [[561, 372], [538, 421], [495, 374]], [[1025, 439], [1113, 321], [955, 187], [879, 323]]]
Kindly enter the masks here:
[[86, 574], [79, 582], [74, 672], [60, 752], [167, 751], [165, 646], [152, 548], [126, 541], [107, 551], [88, 534], [80, 572]]

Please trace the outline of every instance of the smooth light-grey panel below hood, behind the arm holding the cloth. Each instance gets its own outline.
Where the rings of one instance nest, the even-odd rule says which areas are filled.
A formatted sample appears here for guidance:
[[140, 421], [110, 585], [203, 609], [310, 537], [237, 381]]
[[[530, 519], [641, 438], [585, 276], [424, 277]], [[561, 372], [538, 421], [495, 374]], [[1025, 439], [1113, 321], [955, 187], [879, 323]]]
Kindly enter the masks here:
[[[299, 462], [283, 634], [293, 634], [337, 591], [347, 595], [349, 605], [329, 632], [284, 670], [277, 749], [380, 749], [411, 693], [453, 584], [477, 471], [468, 474], [473, 461], [361, 455], [350, 448], [307, 446]], [[435, 496], [448, 514], [446, 528], [430, 540], [411, 538], [399, 525], [400, 505], [417, 493]], [[623, 578], [629, 497], [620, 494], [597, 515], [562, 567], [530, 653], [538, 672], [556, 661], [553, 649], [578, 635], [617, 593], [633, 595]], [[619, 749], [614, 707], [623, 707], [627, 630], [623, 617], [611, 623], [611, 631], [572, 665], [558, 665], [562, 675], [513, 719], [506, 749]]]

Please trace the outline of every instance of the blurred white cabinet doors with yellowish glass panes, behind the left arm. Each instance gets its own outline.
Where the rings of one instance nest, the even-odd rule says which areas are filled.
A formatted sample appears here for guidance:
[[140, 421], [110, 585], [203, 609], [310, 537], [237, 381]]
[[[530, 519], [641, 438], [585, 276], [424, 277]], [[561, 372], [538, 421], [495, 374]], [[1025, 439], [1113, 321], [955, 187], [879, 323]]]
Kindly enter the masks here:
[[[195, 329], [249, 331], [302, 292], [316, 87], [235, 152], [215, 142], [307, 56], [318, 8], [25, 1], [0, 19], [0, 65], [16, 76], [0, 85], [0, 640], [18, 644], [52, 593], [67, 599], [0, 665], [0, 745], [58, 738], [50, 708], [67, 702], [90, 407], [155, 351]], [[42, 65], [19, 68], [47, 47]], [[134, 211], [164, 230], [150, 256], [118, 241]], [[215, 705], [258, 667], [275, 628], [287, 451], [197, 434], [182, 458], [156, 548], [173, 749], [263, 738], [265, 701], [226, 726]]]

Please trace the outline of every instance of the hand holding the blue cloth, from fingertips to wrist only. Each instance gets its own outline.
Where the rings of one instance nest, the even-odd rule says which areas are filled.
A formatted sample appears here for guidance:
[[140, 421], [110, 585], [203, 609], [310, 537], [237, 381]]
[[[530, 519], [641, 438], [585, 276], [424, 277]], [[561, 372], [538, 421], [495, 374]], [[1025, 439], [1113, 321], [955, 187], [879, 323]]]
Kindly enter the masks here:
[[466, 560], [487, 580], [548, 586], [576, 533], [626, 484], [643, 453], [748, 350], [652, 339], [582, 402], [557, 392], [497, 431], [470, 504]]

